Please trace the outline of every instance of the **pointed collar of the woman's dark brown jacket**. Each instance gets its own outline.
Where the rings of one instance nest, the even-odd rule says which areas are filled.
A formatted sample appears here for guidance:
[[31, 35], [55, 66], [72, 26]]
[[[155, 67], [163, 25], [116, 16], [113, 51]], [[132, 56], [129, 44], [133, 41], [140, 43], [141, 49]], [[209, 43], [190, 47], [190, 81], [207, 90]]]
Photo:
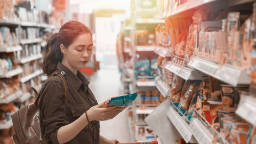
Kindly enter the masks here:
[[82, 83], [85, 84], [85, 87], [87, 87], [90, 83], [88, 79], [86, 79], [85, 76], [81, 73], [80, 70], [77, 70], [77, 74], [75, 75], [74, 73], [72, 73], [70, 69], [64, 66], [61, 62], [58, 62], [57, 69], [59, 71], [65, 72], [64, 77], [66, 77], [67, 79], [67, 84], [73, 85], [76, 91], [79, 90]]

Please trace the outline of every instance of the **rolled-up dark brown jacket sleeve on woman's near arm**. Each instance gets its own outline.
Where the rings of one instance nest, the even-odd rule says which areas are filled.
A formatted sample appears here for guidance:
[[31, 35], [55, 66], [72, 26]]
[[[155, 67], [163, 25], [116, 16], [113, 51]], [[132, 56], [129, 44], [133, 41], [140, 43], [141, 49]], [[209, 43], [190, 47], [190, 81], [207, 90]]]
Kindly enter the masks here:
[[62, 82], [45, 84], [39, 100], [39, 109], [45, 127], [44, 138], [59, 143], [57, 133], [61, 126], [69, 124], [65, 104], [65, 87]]

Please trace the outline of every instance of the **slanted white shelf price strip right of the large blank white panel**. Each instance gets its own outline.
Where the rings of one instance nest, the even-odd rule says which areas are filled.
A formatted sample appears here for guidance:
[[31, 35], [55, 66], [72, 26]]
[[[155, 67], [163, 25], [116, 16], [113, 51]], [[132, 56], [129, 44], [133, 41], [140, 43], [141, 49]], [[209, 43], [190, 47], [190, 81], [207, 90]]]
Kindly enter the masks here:
[[172, 107], [170, 107], [170, 109], [166, 112], [166, 115], [169, 117], [176, 129], [179, 131], [182, 138], [188, 143], [193, 137], [189, 125]]

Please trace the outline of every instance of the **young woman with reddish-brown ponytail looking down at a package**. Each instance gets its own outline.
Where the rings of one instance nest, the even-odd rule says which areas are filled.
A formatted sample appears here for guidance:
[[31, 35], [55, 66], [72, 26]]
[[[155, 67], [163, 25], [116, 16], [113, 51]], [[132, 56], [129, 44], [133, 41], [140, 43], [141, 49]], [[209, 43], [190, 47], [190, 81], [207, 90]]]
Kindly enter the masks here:
[[47, 76], [63, 74], [69, 97], [65, 104], [65, 87], [58, 76], [49, 77], [41, 89], [38, 106], [41, 132], [49, 143], [117, 143], [99, 134], [99, 121], [115, 117], [123, 109], [98, 105], [89, 81], [79, 71], [92, 55], [92, 33], [83, 23], [70, 21], [54, 34], [44, 47], [41, 68]]

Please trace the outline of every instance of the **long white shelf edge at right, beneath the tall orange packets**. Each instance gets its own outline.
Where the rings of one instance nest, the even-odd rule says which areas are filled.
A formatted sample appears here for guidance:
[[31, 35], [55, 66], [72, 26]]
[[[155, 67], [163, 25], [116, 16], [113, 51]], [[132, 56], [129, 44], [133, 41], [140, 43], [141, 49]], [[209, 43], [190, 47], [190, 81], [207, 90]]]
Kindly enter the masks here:
[[215, 62], [199, 57], [191, 59], [188, 65], [233, 86], [251, 83], [250, 74], [243, 68], [230, 65], [219, 66]]

